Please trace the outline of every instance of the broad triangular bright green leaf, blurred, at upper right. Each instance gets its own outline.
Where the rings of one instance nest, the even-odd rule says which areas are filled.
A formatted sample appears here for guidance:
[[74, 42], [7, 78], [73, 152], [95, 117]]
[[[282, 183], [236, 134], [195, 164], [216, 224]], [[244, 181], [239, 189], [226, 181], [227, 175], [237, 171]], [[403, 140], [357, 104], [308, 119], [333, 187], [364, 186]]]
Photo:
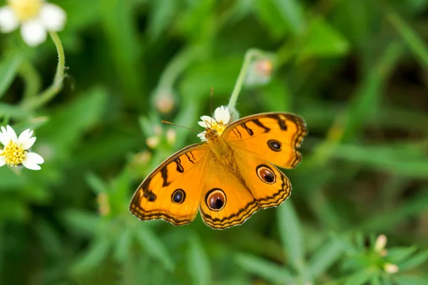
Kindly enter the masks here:
[[307, 58], [344, 56], [349, 51], [347, 39], [324, 19], [313, 19], [297, 52], [300, 61]]

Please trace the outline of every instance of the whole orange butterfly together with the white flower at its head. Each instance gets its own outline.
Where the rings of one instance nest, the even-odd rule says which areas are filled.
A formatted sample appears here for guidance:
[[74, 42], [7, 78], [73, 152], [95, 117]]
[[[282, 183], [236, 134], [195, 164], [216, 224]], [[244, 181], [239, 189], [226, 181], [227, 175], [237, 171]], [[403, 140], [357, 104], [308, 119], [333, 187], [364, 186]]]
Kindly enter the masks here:
[[229, 123], [228, 108], [202, 116], [200, 143], [168, 157], [144, 180], [130, 211], [141, 220], [192, 222], [198, 209], [214, 229], [243, 224], [258, 209], [277, 207], [291, 193], [275, 167], [294, 168], [307, 135], [305, 120], [291, 113], [260, 113]]

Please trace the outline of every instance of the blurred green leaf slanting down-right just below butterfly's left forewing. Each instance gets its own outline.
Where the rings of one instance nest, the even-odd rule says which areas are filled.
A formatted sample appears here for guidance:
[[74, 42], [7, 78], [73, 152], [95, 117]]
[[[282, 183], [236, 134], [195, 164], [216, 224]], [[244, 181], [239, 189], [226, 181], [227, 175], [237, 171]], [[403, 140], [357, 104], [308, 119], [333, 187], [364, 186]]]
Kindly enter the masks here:
[[159, 238], [153, 234], [150, 228], [139, 228], [138, 232], [136, 232], [136, 239], [151, 257], [161, 261], [165, 269], [169, 271], [173, 270], [173, 259], [171, 259], [165, 246], [159, 241]]

